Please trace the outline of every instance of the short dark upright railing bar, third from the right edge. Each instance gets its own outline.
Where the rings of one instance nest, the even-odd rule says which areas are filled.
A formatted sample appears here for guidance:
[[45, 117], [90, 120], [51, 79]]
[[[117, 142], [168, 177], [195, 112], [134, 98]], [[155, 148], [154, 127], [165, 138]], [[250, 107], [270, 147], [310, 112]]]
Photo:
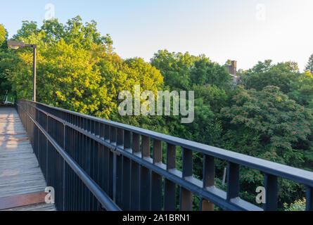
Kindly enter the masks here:
[[231, 198], [239, 196], [239, 165], [233, 162], [228, 163], [227, 167], [227, 197], [229, 201]]

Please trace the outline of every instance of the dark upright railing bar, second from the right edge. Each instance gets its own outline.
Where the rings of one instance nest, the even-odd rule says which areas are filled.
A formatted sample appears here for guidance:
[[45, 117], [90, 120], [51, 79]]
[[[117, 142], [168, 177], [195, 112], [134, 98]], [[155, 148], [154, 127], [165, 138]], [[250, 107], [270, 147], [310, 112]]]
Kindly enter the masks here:
[[265, 188], [265, 211], [276, 211], [277, 210], [277, 176], [272, 174], [265, 174], [264, 176], [264, 188]]

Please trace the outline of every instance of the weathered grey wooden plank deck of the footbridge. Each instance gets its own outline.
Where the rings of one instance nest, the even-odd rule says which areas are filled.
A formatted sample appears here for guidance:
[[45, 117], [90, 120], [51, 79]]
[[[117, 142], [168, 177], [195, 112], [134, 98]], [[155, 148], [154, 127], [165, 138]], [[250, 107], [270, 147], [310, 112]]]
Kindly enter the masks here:
[[[1, 200], [4, 205], [4, 200], [12, 202], [21, 195], [42, 193], [45, 188], [44, 175], [18, 113], [15, 108], [0, 107], [0, 208]], [[51, 211], [55, 207], [39, 203], [7, 210]]]

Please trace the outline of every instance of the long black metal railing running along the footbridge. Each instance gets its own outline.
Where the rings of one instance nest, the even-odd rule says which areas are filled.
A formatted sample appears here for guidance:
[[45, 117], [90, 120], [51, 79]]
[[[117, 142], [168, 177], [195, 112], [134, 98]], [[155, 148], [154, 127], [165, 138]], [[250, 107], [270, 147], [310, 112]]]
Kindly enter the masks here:
[[[193, 195], [200, 210], [277, 210], [278, 177], [304, 184], [313, 210], [312, 172], [43, 103], [17, 101], [16, 108], [57, 210], [192, 210]], [[202, 180], [193, 176], [193, 152], [203, 155]], [[215, 158], [228, 163], [226, 192], [214, 186]], [[239, 198], [241, 166], [264, 174], [263, 209]]]

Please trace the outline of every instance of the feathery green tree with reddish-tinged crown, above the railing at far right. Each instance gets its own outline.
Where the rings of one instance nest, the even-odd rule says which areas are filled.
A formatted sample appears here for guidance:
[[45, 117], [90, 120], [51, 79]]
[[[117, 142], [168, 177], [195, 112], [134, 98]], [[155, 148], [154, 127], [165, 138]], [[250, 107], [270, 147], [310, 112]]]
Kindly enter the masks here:
[[256, 132], [263, 149], [277, 153], [279, 162], [301, 167], [304, 155], [299, 145], [311, 134], [311, 110], [290, 100], [276, 86], [267, 86], [262, 91], [239, 86], [232, 101], [231, 107], [221, 110], [224, 120], [234, 129], [245, 127]]

